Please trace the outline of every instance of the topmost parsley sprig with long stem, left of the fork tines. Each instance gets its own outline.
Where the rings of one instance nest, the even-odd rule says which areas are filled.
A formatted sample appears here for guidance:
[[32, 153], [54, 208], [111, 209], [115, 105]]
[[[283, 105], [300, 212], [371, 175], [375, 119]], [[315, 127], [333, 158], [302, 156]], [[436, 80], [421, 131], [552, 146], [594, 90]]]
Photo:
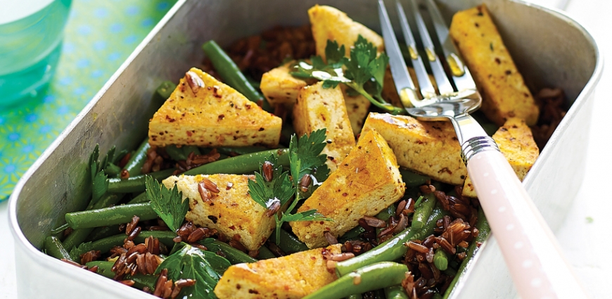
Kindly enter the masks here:
[[324, 88], [346, 84], [365, 96], [374, 106], [392, 114], [403, 113], [402, 108], [387, 103], [381, 95], [389, 57], [385, 53], [378, 55], [376, 46], [361, 35], [350, 49], [350, 58], [344, 54], [344, 45], [338, 47], [338, 42], [328, 40], [325, 47], [327, 63], [324, 63], [321, 56], [312, 56], [310, 64], [305, 61], [295, 64], [295, 71], [291, 75], [319, 79], [323, 81]]

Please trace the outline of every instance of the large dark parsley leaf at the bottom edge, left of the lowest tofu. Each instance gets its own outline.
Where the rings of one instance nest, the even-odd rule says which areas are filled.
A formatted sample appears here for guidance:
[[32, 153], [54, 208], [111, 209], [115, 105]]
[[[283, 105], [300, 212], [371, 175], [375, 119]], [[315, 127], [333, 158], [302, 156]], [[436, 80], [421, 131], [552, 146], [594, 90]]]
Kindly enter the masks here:
[[160, 274], [162, 269], [168, 270], [168, 279], [194, 279], [196, 284], [181, 289], [177, 298], [216, 299], [213, 290], [217, 282], [230, 266], [228, 260], [215, 253], [181, 243], [183, 246], [167, 257], [155, 270]]

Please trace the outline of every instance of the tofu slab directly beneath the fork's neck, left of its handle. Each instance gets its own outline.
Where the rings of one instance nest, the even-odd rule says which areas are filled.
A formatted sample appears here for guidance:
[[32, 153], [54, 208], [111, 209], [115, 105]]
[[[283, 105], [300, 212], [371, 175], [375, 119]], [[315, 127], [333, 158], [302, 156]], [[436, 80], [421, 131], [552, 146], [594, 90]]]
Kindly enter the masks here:
[[467, 169], [450, 122], [421, 122], [404, 115], [370, 113], [362, 134], [373, 129], [393, 148], [400, 166], [447, 184], [464, 184]]

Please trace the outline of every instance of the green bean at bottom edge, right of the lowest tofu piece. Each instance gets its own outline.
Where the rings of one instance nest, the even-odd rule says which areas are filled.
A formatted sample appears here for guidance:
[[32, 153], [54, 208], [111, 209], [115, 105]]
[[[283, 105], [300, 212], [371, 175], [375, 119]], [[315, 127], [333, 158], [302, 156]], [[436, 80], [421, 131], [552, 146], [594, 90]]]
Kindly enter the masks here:
[[398, 286], [402, 284], [406, 272], [408, 272], [406, 265], [397, 262], [378, 262], [350, 272], [307, 295], [304, 299], [338, 299], [356, 293], [374, 291], [378, 288]]

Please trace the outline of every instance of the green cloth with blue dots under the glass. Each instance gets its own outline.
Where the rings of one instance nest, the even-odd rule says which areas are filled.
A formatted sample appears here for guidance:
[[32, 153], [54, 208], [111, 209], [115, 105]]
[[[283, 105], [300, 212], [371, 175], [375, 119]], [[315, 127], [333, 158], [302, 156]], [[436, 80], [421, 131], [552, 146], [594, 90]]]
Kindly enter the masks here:
[[74, 0], [49, 89], [0, 109], [0, 203], [176, 0]]

